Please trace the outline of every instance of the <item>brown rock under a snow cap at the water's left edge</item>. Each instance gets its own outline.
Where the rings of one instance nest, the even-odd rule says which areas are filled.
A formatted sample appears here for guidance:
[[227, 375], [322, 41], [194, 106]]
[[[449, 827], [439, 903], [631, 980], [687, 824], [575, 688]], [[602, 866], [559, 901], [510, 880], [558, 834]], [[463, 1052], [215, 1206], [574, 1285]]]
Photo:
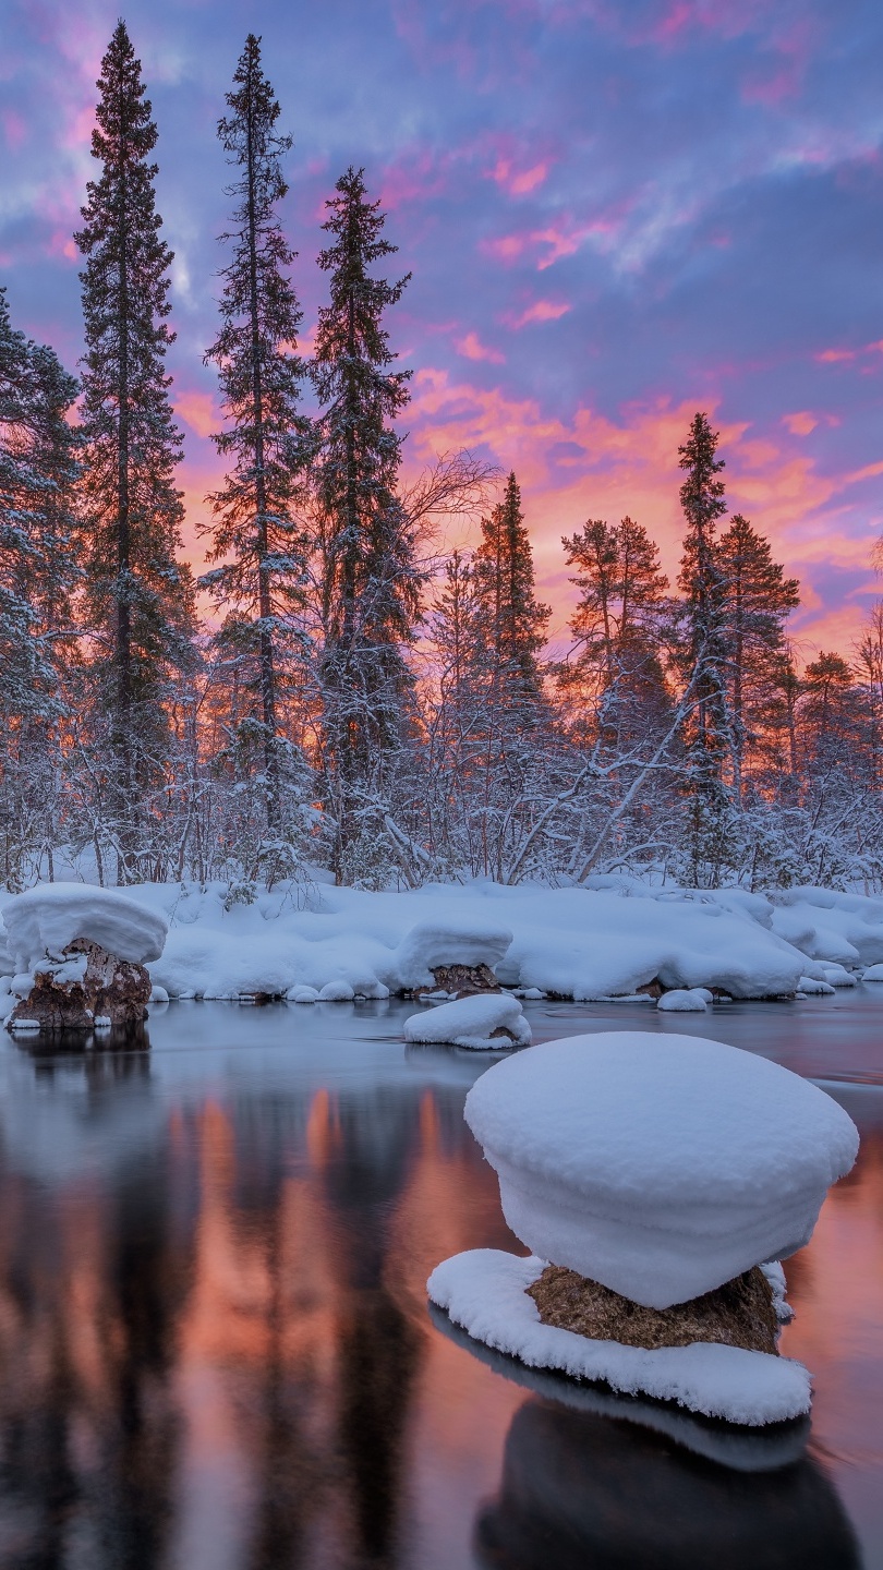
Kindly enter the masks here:
[[132, 959], [118, 959], [85, 939], [63, 950], [60, 959], [35, 967], [31, 991], [6, 1020], [35, 1020], [41, 1030], [93, 1030], [96, 1019], [112, 1027], [140, 1025], [148, 1017], [151, 978]]

